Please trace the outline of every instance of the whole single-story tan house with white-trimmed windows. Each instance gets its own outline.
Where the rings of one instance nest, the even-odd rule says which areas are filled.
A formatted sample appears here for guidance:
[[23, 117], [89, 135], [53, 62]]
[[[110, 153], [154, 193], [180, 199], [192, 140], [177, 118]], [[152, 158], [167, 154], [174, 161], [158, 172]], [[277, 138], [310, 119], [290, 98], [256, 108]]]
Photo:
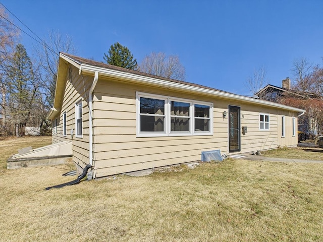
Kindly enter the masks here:
[[93, 177], [297, 145], [304, 110], [60, 53], [52, 142]]

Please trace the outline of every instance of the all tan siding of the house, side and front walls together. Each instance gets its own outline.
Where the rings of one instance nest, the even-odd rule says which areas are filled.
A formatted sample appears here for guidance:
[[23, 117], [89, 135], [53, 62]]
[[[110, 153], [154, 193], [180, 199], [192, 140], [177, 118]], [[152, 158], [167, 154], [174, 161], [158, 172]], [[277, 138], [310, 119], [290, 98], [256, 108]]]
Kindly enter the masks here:
[[[87, 99], [93, 77], [84, 76], [82, 78], [75, 68], [72, 68], [70, 73], [72, 73], [72, 76], [66, 78], [58, 134], [53, 135], [53, 142], [72, 141], [73, 160], [84, 167], [88, 163], [89, 157]], [[213, 135], [136, 137], [136, 91], [212, 102]], [[75, 103], [80, 98], [82, 98], [83, 106], [83, 138], [76, 138]], [[228, 105], [240, 106], [241, 127], [246, 126], [248, 129], [245, 135], [242, 135], [241, 132], [241, 152], [278, 147], [280, 144], [278, 139], [280, 114], [276, 109], [241, 104], [234, 100], [210, 99], [206, 96], [175, 92], [172, 89], [152, 88], [99, 77], [93, 97], [93, 142], [96, 177], [196, 161], [200, 160], [201, 151], [220, 149], [222, 153], [228, 153], [228, 116], [225, 119], [222, 117], [224, 110], [228, 112]], [[66, 137], [63, 137], [64, 111], [67, 112]], [[269, 131], [259, 130], [259, 112], [270, 114]], [[287, 114], [284, 115], [287, 116]], [[286, 124], [289, 122], [288, 120], [286, 118]], [[70, 135], [71, 129], [74, 130], [73, 137]], [[293, 142], [295, 143], [295, 139], [289, 139], [287, 143]]]

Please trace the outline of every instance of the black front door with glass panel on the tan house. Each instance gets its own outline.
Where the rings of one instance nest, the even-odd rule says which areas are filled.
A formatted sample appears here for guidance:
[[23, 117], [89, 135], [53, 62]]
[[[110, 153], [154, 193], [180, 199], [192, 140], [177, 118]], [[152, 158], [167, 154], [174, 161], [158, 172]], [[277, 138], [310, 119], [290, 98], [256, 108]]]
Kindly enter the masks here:
[[240, 151], [240, 107], [229, 106], [229, 152]]

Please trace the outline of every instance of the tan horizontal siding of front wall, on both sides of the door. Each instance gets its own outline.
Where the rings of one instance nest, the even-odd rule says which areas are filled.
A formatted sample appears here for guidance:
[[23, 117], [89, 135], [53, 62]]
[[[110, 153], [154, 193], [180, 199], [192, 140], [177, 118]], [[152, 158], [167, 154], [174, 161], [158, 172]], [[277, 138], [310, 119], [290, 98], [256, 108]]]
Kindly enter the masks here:
[[[136, 137], [136, 91], [213, 102], [212, 136]], [[241, 152], [277, 148], [277, 110], [234, 101], [151, 89], [99, 78], [93, 98], [94, 164], [96, 176], [200, 160], [201, 151], [228, 153], [228, 105], [240, 106]], [[259, 130], [259, 112], [270, 114], [270, 130]], [[237, 153], [237, 152], [236, 152]]]

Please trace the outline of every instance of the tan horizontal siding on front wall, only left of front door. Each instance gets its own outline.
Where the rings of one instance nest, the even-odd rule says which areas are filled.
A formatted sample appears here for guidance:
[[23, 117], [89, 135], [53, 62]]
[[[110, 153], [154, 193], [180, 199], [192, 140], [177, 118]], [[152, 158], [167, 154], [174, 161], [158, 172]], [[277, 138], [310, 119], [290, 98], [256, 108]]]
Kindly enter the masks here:
[[213, 110], [213, 136], [136, 137], [136, 91], [210, 101], [204, 97], [99, 79], [93, 103], [97, 177], [197, 161], [201, 151], [227, 149], [227, 124], [221, 122], [222, 111], [216, 109]]

